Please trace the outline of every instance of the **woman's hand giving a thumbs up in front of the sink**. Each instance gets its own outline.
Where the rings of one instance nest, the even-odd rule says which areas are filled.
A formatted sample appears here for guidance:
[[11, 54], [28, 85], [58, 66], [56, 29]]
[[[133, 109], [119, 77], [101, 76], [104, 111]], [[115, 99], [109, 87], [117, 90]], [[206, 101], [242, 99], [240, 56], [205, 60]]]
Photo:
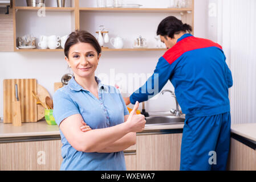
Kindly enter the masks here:
[[141, 132], [145, 128], [145, 116], [142, 114], [136, 114], [136, 110], [139, 108], [139, 102], [136, 101], [135, 106], [133, 107], [131, 113], [129, 114], [129, 117], [127, 119], [127, 122], [131, 132]]

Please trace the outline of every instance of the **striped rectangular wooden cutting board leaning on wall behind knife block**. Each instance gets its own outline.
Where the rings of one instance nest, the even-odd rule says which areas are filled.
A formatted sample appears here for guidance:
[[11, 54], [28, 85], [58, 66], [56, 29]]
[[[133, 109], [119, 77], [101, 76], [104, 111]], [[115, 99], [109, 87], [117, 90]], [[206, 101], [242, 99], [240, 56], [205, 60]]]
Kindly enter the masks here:
[[3, 80], [3, 122], [11, 123], [14, 119], [15, 84], [21, 101], [22, 122], [38, 121], [36, 100], [31, 94], [37, 90], [36, 79], [8, 79]]

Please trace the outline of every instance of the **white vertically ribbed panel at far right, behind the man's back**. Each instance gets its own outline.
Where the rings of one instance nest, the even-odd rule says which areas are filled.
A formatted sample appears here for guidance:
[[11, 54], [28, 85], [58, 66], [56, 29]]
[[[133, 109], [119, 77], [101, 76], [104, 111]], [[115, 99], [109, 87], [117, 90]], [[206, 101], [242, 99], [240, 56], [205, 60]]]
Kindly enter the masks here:
[[256, 122], [256, 1], [218, 1], [220, 40], [233, 76], [230, 89], [231, 121]]

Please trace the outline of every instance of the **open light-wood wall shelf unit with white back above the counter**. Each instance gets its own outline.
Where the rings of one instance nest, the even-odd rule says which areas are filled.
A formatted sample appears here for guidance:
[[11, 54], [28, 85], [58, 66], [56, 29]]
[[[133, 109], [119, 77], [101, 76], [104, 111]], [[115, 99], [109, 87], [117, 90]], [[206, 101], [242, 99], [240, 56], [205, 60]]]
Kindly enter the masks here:
[[[166, 0], [167, 2], [168, 0]], [[165, 18], [167, 15], [178, 16], [182, 22], [194, 24], [194, 0], [189, 0], [192, 3], [188, 8], [98, 8], [93, 0], [70, 0], [70, 7], [53, 7], [47, 4], [43, 9], [40, 7], [27, 7], [25, 0], [13, 0], [13, 29], [14, 29], [14, 51], [16, 52], [34, 52], [34, 51], [63, 51], [63, 49], [17, 49], [16, 39], [19, 36], [32, 33], [39, 39], [40, 35], [60, 35], [70, 34], [71, 31], [82, 29], [95, 33], [95, 28], [106, 22], [106, 14], [111, 23], [108, 28], [113, 32], [115, 26], [115, 34], [129, 35], [134, 34], [135, 38], [141, 32], [151, 30], [152, 24], [157, 27], [157, 22], [152, 22], [150, 16], [159, 16], [159, 19]], [[122, 16], [125, 14], [124, 16]], [[136, 14], [136, 16], [135, 16]], [[160, 15], [161, 14], [161, 15]], [[61, 17], [61, 18], [60, 18]], [[99, 20], [97, 18], [100, 18]], [[145, 22], [144, 18], [147, 18]], [[115, 19], [116, 18], [116, 19]], [[125, 19], [125, 18], [130, 18]], [[139, 21], [140, 27], [133, 23]], [[120, 24], [121, 22], [121, 24]], [[122, 24], [125, 22], [125, 24]], [[141, 23], [143, 22], [143, 23]], [[124, 26], [123, 26], [124, 25]], [[150, 26], [148, 28], [147, 26]], [[46, 28], [47, 27], [47, 28]], [[129, 28], [127, 28], [129, 27]], [[144, 29], [143, 29], [144, 28]], [[145, 29], [146, 28], [146, 29]], [[118, 30], [116, 30], [118, 29]], [[155, 31], [155, 30], [154, 30]], [[116, 36], [116, 35], [115, 35]], [[119, 35], [120, 36], [120, 35]], [[121, 35], [122, 36], [122, 35]], [[155, 36], [155, 34], [154, 34]], [[127, 38], [129, 39], [129, 38]], [[153, 38], [154, 39], [154, 38]], [[36, 42], [38, 45], [39, 40]], [[131, 48], [124, 47], [123, 49], [103, 48], [103, 51], [166, 51], [165, 48]]]

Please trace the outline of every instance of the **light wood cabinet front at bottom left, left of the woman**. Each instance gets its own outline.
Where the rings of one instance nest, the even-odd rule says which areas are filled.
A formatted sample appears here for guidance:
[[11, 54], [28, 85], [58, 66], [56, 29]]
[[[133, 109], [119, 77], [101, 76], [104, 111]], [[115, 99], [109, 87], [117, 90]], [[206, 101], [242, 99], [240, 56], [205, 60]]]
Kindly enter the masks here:
[[59, 170], [60, 140], [0, 143], [0, 170]]

